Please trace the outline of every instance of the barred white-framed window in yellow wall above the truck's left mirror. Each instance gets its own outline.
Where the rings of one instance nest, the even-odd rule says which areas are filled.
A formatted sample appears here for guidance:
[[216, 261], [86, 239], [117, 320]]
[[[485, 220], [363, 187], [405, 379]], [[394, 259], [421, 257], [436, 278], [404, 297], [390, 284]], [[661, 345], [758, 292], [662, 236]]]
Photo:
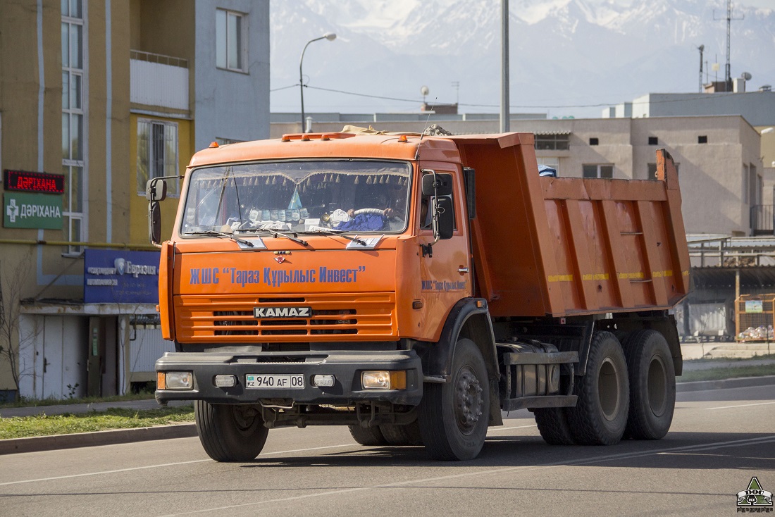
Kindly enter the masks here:
[[[137, 121], [137, 193], [145, 195], [151, 178], [177, 176], [177, 124]], [[167, 195], [177, 195], [177, 180], [167, 181]]]

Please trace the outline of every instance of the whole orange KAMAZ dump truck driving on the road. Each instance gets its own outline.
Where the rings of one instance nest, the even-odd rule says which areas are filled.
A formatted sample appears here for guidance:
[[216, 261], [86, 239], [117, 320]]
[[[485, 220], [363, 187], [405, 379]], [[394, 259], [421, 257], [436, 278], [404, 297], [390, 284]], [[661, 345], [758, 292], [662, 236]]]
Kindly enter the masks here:
[[689, 258], [656, 159], [627, 181], [539, 177], [529, 133], [213, 144], [161, 243], [157, 401], [195, 401], [220, 461], [312, 425], [466, 460], [519, 408], [547, 443], [659, 439]]

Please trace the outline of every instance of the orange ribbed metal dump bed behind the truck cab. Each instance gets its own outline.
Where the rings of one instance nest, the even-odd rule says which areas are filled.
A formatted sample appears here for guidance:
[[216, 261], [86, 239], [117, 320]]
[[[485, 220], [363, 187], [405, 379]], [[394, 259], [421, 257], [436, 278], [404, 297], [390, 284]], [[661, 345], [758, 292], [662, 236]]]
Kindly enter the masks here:
[[670, 308], [689, 255], [673, 159], [660, 181], [539, 177], [533, 135], [451, 136], [476, 170], [474, 261], [494, 316]]

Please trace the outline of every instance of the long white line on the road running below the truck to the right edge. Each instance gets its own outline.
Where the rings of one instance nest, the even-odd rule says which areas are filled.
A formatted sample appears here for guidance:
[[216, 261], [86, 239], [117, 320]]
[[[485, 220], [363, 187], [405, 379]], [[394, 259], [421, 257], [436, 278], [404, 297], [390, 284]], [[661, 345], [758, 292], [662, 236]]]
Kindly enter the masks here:
[[491, 470], [477, 470], [476, 472], [467, 472], [463, 474], [450, 474], [447, 476], [426, 477], [424, 479], [398, 481], [397, 483], [377, 484], [377, 485], [370, 485], [365, 487], [354, 487], [354, 488], [344, 488], [341, 490], [321, 491], [321, 492], [315, 492], [314, 494], [295, 495], [288, 498], [268, 499], [266, 501], [244, 503], [242, 505], [228, 505], [228, 506], [219, 506], [215, 508], [205, 508], [205, 509], [195, 510], [193, 512], [181, 512], [181, 513], [168, 514], [168, 515], [164, 515], [164, 517], [174, 517], [177, 515], [194, 515], [198, 513], [216, 512], [219, 510], [246, 508], [249, 506], [266, 505], [267, 503], [298, 501], [301, 499], [325, 497], [327, 495], [350, 494], [358, 491], [374, 490], [374, 488], [399, 488], [399, 487], [408, 486], [412, 484], [431, 483], [435, 481], [446, 481], [450, 479], [462, 479], [465, 477], [494, 476], [497, 474], [504, 474], [507, 472], [543, 470], [543, 469], [556, 468], [556, 467], [569, 467], [569, 466], [575, 466], [575, 465], [597, 464], [597, 463], [604, 463], [606, 461], [645, 457], [645, 456], [651, 456], [651, 455], [660, 454], [660, 453], [677, 452], [681, 450], [718, 449], [724, 446], [740, 446], [740, 445], [746, 445], [750, 443], [769, 443], [769, 442], [775, 442], [775, 435], [760, 436], [757, 438], [749, 438], [749, 439], [730, 440], [729, 442], [702, 443], [702, 444], [691, 445], [691, 446], [669, 447], [667, 449], [662, 449], [662, 450], [649, 450], [649, 451], [635, 452], [635, 453], [609, 454], [608, 456], [603, 456], [603, 457], [594, 457], [594, 458], [587, 458], [587, 459], [580, 459], [580, 460], [573, 460], [573, 461], [566, 461], [566, 462], [552, 463], [552, 464], [527, 465], [522, 467], [503, 467], [503, 468], [497, 468], [497, 469], [491, 469]]

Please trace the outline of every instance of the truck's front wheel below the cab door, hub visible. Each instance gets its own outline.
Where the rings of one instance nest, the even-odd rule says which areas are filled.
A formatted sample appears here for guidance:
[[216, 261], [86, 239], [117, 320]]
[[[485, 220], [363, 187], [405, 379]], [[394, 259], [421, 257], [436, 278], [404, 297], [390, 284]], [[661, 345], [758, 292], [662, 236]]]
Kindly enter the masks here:
[[487, 368], [476, 344], [460, 339], [444, 384], [423, 386], [418, 423], [435, 460], [473, 460], [484, 446], [490, 416]]

